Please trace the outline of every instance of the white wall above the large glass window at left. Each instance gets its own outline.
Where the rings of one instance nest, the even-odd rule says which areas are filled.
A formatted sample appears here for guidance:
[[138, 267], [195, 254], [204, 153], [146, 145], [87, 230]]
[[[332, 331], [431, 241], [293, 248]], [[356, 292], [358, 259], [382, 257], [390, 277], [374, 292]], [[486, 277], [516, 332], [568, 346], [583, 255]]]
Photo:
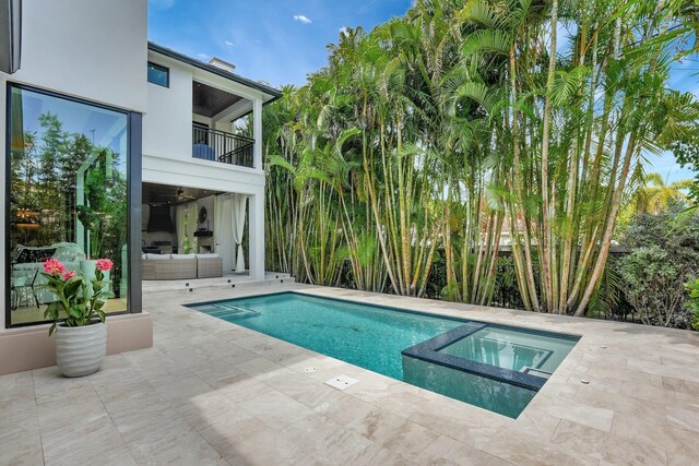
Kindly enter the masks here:
[[[31, 0], [23, 2], [22, 63], [0, 72], [0, 154], [5, 159], [8, 83], [20, 83], [123, 110], [146, 110], [147, 0]], [[0, 191], [5, 192], [5, 164]], [[4, 224], [5, 203], [0, 203]], [[0, 228], [0, 243], [5, 231]], [[0, 259], [0, 338], [5, 330], [4, 251]], [[16, 335], [16, 333], [15, 333]], [[23, 334], [22, 334], [23, 335]], [[16, 336], [15, 336], [16, 338]]]

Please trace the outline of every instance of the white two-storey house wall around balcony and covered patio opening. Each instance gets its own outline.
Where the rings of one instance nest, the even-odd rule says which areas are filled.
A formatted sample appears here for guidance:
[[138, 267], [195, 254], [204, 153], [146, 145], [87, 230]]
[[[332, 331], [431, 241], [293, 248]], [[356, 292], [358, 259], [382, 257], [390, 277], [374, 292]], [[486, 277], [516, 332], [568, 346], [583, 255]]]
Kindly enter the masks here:
[[[149, 52], [149, 61], [169, 70], [169, 87], [147, 85], [147, 111], [143, 117], [143, 182], [237, 192], [250, 198], [249, 268], [264, 277], [264, 170], [261, 164], [261, 111], [263, 95], [224, 77], [192, 70], [187, 64]], [[249, 101], [259, 112], [256, 168], [201, 160], [192, 157], [192, 121], [205, 122], [217, 130], [232, 131], [227, 116], [216, 121], [192, 113], [192, 82], [227, 89]], [[245, 106], [245, 105], [244, 105]], [[246, 107], [247, 108], [247, 107]], [[213, 216], [213, 203], [208, 207]], [[213, 230], [213, 225], [210, 225]], [[256, 235], [254, 237], [252, 235]], [[213, 246], [213, 240], [204, 241]]]

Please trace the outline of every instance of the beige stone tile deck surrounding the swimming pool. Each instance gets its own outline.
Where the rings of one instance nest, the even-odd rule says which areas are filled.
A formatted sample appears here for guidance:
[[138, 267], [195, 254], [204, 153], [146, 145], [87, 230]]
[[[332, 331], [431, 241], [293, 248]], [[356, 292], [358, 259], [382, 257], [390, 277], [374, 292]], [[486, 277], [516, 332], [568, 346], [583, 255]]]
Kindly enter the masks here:
[[[510, 419], [181, 306], [283, 289], [582, 338]], [[697, 333], [298, 284], [143, 300], [153, 348], [0, 377], [0, 464], [699, 464]]]

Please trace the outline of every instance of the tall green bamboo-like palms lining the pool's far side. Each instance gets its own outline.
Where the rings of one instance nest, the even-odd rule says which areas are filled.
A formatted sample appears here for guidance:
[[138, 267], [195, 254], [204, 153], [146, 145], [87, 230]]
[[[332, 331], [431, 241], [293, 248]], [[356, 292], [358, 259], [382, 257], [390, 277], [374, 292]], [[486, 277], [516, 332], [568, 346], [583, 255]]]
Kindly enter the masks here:
[[[265, 108], [268, 267], [319, 285], [582, 315], [644, 157], [696, 133], [668, 87], [692, 1], [418, 0]], [[348, 276], [348, 278], [347, 278]]]

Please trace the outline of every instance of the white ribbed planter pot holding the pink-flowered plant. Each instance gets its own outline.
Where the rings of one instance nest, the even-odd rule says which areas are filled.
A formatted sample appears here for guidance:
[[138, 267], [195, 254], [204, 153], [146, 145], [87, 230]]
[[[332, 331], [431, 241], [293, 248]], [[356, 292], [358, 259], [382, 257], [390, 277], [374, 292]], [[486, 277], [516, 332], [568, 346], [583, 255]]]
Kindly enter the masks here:
[[107, 325], [56, 326], [56, 363], [66, 377], [97, 372], [107, 354]]

